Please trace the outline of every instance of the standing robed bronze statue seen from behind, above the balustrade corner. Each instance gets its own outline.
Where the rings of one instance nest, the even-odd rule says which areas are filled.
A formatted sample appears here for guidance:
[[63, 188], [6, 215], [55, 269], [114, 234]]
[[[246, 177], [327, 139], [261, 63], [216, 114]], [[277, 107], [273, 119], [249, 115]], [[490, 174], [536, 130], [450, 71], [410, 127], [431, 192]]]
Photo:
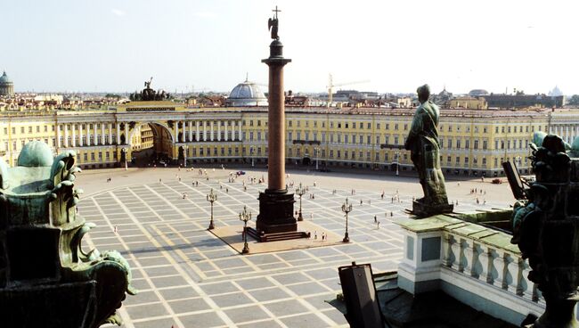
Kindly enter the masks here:
[[414, 113], [410, 133], [404, 149], [411, 151], [411, 160], [418, 171], [424, 197], [412, 203], [412, 212], [427, 217], [453, 211], [448, 204], [444, 176], [440, 169], [440, 146], [438, 144], [438, 106], [430, 102], [428, 85], [417, 89], [420, 106]]

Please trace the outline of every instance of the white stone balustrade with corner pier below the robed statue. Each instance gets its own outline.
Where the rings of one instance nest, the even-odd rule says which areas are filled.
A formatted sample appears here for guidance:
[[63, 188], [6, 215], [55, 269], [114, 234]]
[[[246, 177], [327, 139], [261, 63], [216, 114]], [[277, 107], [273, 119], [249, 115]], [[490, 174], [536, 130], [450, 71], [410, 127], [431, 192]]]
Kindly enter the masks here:
[[529, 265], [517, 245], [510, 243], [512, 236], [476, 223], [481, 217], [496, 222], [493, 217], [504, 219], [509, 214], [495, 211], [398, 221], [405, 239], [399, 287], [412, 293], [443, 290], [511, 324], [520, 324], [529, 314], [540, 316], [544, 299], [528, 280]]

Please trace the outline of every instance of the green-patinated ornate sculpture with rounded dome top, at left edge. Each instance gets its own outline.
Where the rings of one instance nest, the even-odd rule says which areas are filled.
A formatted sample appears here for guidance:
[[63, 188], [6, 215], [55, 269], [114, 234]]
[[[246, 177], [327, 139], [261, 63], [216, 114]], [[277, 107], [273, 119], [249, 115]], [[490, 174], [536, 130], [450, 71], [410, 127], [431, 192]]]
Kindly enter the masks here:
[[53, 158], [46, 143], [22, 148], [18, 166], [0, 160], [0, 325], [96, 328], [121, 324], [131, 287], [118, 251], [85, 251], [95, 225], [77, 214], [76, 153]]

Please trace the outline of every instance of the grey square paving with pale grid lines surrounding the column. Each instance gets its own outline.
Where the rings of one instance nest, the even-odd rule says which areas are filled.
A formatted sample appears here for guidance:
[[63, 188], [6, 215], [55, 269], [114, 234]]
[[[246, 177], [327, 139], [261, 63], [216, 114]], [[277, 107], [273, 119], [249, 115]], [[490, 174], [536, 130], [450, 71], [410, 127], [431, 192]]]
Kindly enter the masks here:
[[[186, 180], [120, 186], [93, 193], [79, 204], [86, 221], [98, 225], [86, 246], [119, 250], [133, 268], [140, 292], [127, 297], [119, 309], [126, 327], [347, 327], [338, 310], [324, 302], [341, 292], [338, 266], [356, 261], [384, 272], [396, 270], [402, 257], [402, 235], [395, 222], [407, 217], [404, 209], [411, 206], [412, 196], [400, 193], [398, 202], [392, 200], [396, 193], [386, 193], [381, 199], [375, 188], [353, 195], [349, 184], [333, 193], [333, 186], [314, 187], [309, 181], [303, 197], [305, 219], [343, 235], [340, 206], [348, 197], [354, 203], [348, 216], [352, 242], [243, 256], [206, 230], [206, 194], [211, 188], [218, 194], [217, 226], [241, 226], [238, 213], [246, 205], [257, 214], [257, 195], [265, 185], [246, 183], [244, 191], [240, 179]], [[504, 207], [504, 201], [476, 205], [467, 195], [457, 209], [493, 206]]]

